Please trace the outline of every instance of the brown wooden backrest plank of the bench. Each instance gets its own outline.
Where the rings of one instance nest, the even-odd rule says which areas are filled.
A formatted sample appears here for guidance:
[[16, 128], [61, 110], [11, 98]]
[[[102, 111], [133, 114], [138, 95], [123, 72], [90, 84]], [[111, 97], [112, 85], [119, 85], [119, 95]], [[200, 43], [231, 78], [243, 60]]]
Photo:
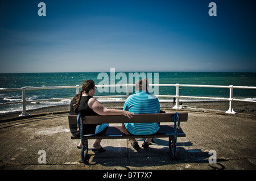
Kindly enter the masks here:
[[[146, 113], [135, 114], [131, 119], [123, 115], [112, 116], [82, 116], [84, 124], [103, 124], [103, 123], [162, 123], [173, 122], [175, 113]], [[180, 121], [188, 120], [187, 112], [179, 113]], [[69, 124], [77, 124], [77, 115], [68, 115]]]

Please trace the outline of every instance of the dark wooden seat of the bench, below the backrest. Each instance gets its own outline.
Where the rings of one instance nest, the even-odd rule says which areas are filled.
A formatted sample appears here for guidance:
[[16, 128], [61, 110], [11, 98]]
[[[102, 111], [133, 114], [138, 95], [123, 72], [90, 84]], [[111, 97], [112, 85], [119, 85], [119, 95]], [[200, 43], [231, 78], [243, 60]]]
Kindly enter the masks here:
[[[117, 139], [117, 138], [159, 138], [159, 137], [174, 137], [174, 125], [160, 125], [157, 133], [151, 135], [133, 135], [123, 133], [123, 127], [108, 127], [104, 131], [93, 136], [85, 136], [85, 139]], [[185, 137], [183, 130], [177, 129], [177, 137]], [[72, 136], [72, 139], [80, 139], [80, 137]]]

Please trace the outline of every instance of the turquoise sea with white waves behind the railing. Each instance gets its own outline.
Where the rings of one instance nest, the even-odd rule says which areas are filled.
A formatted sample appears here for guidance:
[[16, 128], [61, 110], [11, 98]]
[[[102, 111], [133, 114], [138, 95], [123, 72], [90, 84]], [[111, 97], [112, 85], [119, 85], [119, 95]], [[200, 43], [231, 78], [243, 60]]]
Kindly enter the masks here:
[[[118, 72], [110, 74], [110, 72], [76, 72], [76, 73], [6, 73], [0, 74], [0, 104], [18, 102], [22, 100], [22, 91], [3, 92], [3, 89], [13, 89], [21, 87], [48, 87], [48, 86], [76, 86], [82, 85], [86, 79], [93, 79], [96, 85], [108, 82], [120, 81], [129, 83], [129, 73], [123, 72], [121, 75], [125, 77], [118, 78]], [[155, 76], [156, 74], [158, 76]], [[132, 73], [135, 75], [135, 73]], [[137, 74], [137, 73], [136, 73]], [[159, 84], [189, 84], [189, 85], [222, 85], [222, 86], [256, 86], [256, 73], [233, 73], [233, 72], [138, 72], [139, 75], [146, 75], [152, 78], [152, 83], [156, 83], [158, 78]], [[101, 76], [100, 76], [101, 75]], [[102, 75], [105, 75], [103, 77]], [[135, 79], [133, 79], [133, 83]], [[130, 94], [133, 94], [130, 92]], [[186, 96], [217, 96], [229, 98], [229, 89], [203, 88], [203, 87], [180, 87], [180, 95]], [[67, 98], [59, 101], [42, 101], [27, 104], [27, 110], [69, 104], [70, 99], [76, 94], [76, 89], [49, 89], [49, 90], [27, 90], [27, 100]], [[96, 95], [125, 95], [126, 92], [102, 92], [96, 91]], [[159, 95], [175, 95], [175, 87], [159, 87]], [[256, 100], [255, 89], [234, 89], [234, 98]], [[159, 97], [159, 100], [167, 98]], [[172, 98], [169, 98], [172, 99]], [[103, 100], [123, 100], [123, 98], [104, 98]], [[183, 99], [181, 101], [201, 101], [205, 99]], [[209, 99], [207, 101], [212, 101]], [[22, 110], [22, 104], [0, 105], [0, 113], [13, 112]]]

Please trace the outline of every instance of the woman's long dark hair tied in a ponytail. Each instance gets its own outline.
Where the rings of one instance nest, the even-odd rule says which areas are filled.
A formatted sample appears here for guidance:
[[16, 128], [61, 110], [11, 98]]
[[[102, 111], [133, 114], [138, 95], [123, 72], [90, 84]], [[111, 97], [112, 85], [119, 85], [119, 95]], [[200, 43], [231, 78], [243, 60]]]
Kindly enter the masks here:
[[94, 89], [94, 86], [95, 86], [95, 83], [93, 80], [90, 79], [90, 80], [84, 81], [84, 83], [82, 84], [82, 90], [79, 92], [79, 94], [75, 95], [73, 98], [72, 103], [73, 103], [74, 111], [79, 106], [82, 92], [88, 93], [91, 89]]

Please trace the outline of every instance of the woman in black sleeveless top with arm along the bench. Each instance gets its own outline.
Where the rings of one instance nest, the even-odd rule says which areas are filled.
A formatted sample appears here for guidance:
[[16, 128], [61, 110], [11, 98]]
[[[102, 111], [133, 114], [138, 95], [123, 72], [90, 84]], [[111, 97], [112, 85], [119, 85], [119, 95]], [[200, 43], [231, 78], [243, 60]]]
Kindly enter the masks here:
[[[96, 86], [93, 80], [87, 80], [82, 85], [82, 90], [79, 92], [79, 94], [75, 95], [73, 100], [70, 104], [70, 114], [81, 114], [82, 116], [94, 116], [94, 115], [125, 115], [129, 118], [133, 117], [134, 113], [129, 111], [123, 111], [123, 110], [115, 110], [115, 109], [108, 109], [105, 106], [103, 106], [98, 100], [93, 98], [94, 94], [96, 92]], [[83, 134], [97, 134], [101, 131], [103, 131], [106, 127], [108, 127], [109, 124], [86, 124], [84, 126]], [[73, 136], [80, 136], [80, 131], [77, 129], [77, 126], [74, 125], [73, 127], [70, 127], [71, 133]], [[92, 149], [93, 151], [106, 151], [101, 146], [101, 139], [97, 139], [93, 147], [95, 149]], [[77, 148], [82, 148], [82, 143], [80, 141], [79, 145], [77, 145]]]

